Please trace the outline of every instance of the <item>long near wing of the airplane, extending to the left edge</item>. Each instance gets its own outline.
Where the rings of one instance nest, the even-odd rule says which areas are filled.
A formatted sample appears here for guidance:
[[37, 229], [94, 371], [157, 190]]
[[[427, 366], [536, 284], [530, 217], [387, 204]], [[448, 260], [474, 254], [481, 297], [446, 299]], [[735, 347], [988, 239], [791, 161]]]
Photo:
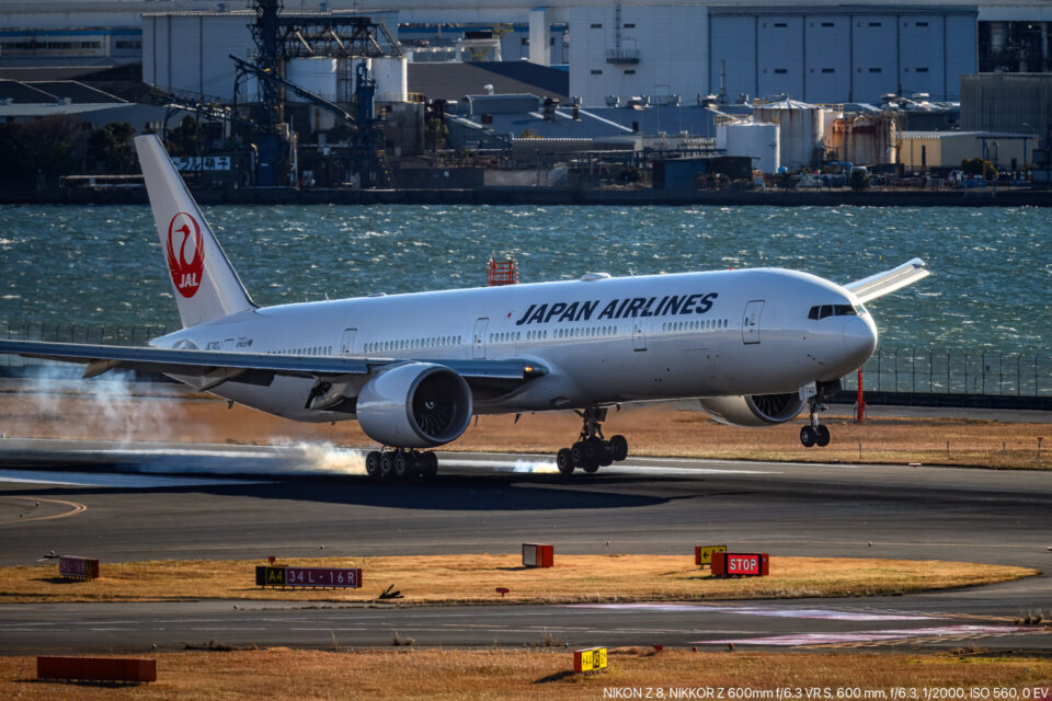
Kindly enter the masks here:
[[[275, 376], [338, 378], [370, 375], [386, 366], [410, 361], [407, 358], [347, 358], [339, 356], [271, 355], [266, 353], [228, 353], [185, 348], [144, 346], [101, 346], [43, 341], [0, 340], [0, 354], [20, 355], [84, 365], [84, 378], [114, 369], [139, 370], [197, 377], [199, 390], [209, 390], [222, 382], [247, 382], [268, 386]], [[471, 380], [523, 382], [548, 374], [548, 369], [528, 360], [420, 360], [435, 363]]]

